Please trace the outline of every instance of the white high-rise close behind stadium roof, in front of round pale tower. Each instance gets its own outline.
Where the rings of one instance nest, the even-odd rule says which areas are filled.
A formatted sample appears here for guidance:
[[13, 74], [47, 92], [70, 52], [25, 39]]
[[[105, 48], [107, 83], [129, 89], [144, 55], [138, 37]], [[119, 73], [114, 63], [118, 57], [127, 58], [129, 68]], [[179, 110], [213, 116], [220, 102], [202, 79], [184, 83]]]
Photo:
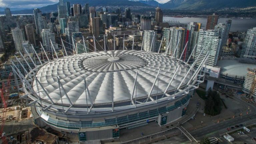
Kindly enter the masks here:
[[155, 31], [146, 30], [144, 31], [143, 50], [149, 52], [157, 52], [157, 36]]

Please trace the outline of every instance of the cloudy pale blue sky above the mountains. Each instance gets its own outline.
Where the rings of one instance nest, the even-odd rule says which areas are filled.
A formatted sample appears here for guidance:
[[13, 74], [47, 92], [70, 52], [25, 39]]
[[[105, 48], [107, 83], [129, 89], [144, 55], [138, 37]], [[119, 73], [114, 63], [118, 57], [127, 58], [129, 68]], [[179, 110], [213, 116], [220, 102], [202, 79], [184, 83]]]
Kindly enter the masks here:
[[[0, 0], [0, 7], [10, 8], [40, 8], [58, 3], [59, 0]], [[169, 0], [156, 0], [165, 3]]]

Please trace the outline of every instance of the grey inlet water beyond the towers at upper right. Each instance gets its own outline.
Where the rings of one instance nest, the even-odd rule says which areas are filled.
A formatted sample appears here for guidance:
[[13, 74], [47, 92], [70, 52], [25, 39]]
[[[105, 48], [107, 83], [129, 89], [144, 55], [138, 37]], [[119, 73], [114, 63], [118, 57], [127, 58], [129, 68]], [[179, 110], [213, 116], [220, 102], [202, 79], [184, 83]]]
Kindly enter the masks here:
[[[198, 22], [203, 24], [203, 29], [206, 27], [207, 18], [175, 18], [175, 17], [164, 17], [166, 21], [179, 21], [180, 23]], [[239, 19], [239, 18], [219, 18], [218, 23], [225, 23], [226, 20], [232, 20], [230, 32], [247, 32], [248, 29], [256, 27], [256, 19]]]

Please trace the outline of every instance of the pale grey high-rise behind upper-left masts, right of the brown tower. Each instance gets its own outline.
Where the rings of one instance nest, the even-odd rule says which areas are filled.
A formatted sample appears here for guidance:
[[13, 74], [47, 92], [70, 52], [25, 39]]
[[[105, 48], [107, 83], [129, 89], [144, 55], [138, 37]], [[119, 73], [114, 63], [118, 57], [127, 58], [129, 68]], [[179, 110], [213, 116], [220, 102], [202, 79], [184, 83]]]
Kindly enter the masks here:
[[52, 49], [52, 44], [53, 43], [54, 48], [58, 48], [58, 45], [55, 44], [55, 34], [52, 33], [49, 29], [43, 29], [42, 30], [42, 40], [43, 40], [43, 45], [45, 46], [45, 49], [47, 51], [50, 51], [54, 53], [54, 50]]

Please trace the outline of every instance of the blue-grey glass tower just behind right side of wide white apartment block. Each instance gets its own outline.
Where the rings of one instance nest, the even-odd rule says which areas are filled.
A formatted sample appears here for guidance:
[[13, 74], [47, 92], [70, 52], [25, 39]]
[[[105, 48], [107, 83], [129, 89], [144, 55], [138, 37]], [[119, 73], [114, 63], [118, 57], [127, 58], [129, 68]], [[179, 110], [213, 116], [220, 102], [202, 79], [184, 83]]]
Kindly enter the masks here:
[[221, 37], [220, 44], [220, 53], [222, 52], [222, 48], [227, 45], [227, 40], [229, 36], [229, 30], [231, 27], [232, 20], [227, 20], [226, 23], [219, 23], [215, 25], [214, 30], [219, 32], [219, 36]]

